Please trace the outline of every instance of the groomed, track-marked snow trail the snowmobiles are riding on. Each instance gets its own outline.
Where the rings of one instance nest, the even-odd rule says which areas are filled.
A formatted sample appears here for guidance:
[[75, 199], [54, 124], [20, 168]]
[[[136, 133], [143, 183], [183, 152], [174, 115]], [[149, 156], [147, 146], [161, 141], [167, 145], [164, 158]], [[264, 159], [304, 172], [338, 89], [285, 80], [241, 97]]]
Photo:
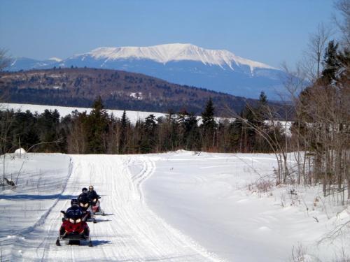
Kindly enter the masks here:
[[[62, 197], [43, 224], [27, 235], [16, 260], [22, 261], [222, 261], [153, 213], [141, 184], [154, 169], [152, 157], [73, 155], [73, 170]], [[93, 184], [106, 216], [89, 223], [94, 247], [55, 245], [60, 210], [82, 187]]]

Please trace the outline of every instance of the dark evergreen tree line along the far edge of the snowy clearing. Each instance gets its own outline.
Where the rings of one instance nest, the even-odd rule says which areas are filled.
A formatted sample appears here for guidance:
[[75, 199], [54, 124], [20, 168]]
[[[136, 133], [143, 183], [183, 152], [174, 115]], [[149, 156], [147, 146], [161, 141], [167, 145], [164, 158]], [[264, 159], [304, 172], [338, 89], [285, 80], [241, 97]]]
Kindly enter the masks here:
[[[165, 117], [148, 115], [132, 123], [124, 111], [122, 117], [109, 115], [98, 97], [90, 114], [73, 111], [61, 117], [57, 110], [43, 113], [2, 110], [0, 112], [1, 154], [23, 147], [31, 152], [62, 152], [70, 154], [139, 154], [173, 150], [207, 152], [270, 152], [267, 143], [250, 122], [260, 129], [279, 135], [282, 126], [264, 122], [262, 109], [267, 97], [262, 92], [255, 107], [246, 106], [244, 119], [217, 120], [215, 106], [207, 101], [201, 117], [181, 110]], [[273, 129], [273, 130], [272, 130]]]

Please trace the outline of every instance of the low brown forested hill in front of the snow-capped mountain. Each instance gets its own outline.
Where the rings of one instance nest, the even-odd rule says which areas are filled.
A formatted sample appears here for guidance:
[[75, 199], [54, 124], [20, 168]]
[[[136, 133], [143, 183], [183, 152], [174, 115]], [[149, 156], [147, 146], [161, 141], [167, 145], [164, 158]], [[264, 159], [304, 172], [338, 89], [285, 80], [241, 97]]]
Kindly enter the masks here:
[[[175, 85], [139, 73], [96, 68], [53, 68], [0, 74], [0, 93], [8, 102], [90, 107], [101, 96], [106, 108], [151, 112], [187, 110], [199, 114], [211, 97], [217, 115], [241, 112], [238, 96]], [[0, 94], [1, 96], [1, 94]]]

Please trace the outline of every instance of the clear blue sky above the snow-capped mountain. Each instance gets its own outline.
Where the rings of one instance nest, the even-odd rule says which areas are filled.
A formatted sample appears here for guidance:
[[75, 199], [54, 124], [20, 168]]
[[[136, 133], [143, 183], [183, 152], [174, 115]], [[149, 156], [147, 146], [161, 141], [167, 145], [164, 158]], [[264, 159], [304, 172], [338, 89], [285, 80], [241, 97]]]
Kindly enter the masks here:
[[193, 43], [279, 67], [302, 57], [332, 0], [0, 1], [0, 48], [66, 58], [106, 46]]

